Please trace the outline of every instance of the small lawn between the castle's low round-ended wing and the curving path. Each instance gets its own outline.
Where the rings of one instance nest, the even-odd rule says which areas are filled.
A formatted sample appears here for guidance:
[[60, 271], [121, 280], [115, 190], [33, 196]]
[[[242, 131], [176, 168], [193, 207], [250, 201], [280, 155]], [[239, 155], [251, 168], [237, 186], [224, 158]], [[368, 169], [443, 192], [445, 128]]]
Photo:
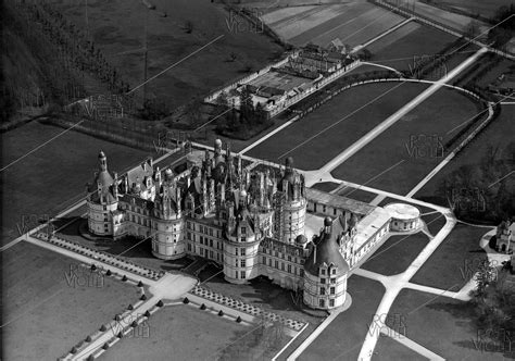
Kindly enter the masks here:
[[428, 244], [424, 233], [390, 236], [360, 267], [392, 276], [404, 272]]

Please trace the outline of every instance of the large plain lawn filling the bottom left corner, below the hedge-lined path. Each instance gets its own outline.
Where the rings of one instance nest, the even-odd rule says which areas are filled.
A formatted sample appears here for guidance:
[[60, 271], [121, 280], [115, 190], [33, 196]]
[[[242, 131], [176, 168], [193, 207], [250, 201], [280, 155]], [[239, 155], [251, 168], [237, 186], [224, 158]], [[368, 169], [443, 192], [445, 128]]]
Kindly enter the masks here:
[[106, 276], [101, 287], [81, 286], [89, 270], [25, 241], [3, 251], [2, 264], [7, 360], [55, 360], [139, 296], [135, 286]]

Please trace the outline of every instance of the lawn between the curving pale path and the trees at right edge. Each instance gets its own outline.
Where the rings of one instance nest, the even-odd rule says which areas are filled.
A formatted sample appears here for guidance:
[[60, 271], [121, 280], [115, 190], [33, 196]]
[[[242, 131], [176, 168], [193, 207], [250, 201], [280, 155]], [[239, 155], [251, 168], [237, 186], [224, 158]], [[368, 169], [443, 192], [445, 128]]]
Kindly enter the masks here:
[[411, 282], [451, 291], [460, 290], [472, 278], [480, 261], [487, 259], [479, 240], [488, 231], [485, 227], [456, 224]]

